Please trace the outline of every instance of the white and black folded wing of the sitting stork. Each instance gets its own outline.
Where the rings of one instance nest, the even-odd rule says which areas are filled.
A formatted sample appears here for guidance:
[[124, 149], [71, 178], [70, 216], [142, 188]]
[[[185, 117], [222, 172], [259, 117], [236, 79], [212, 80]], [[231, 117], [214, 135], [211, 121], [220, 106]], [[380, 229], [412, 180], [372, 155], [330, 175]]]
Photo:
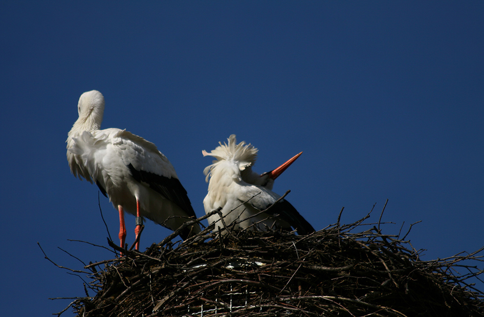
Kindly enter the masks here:
[[[271, 207], [266, 213], [286, 221], [298, 234], [309, 234], [314, 228], [303, 216], [286, 200], [281, 199], [278, 194], [260, 186], [244, 186], [242, 201], [247, 201], [253, 208], [264, 211]], [[250, 200], [249, 200], [250, 199]], [[272, 206], [274, 205], [274, 206]]]

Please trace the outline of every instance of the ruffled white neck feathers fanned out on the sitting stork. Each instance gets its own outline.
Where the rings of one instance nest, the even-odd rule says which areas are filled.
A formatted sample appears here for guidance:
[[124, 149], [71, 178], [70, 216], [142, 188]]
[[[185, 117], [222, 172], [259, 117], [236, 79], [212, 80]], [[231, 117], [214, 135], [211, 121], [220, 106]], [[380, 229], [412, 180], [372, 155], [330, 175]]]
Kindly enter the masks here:
[[203, 173], [207, 176], [205, 179], [207, 182], [212, 169], [222, 161], [229, 161], [230, 163], [235, 164], [239, 171], [243, 171], [254, 164], [257, 159], [258, 149], [254, 148], [250, 143], [246, 145], [245, 142], [242, 141], [241, 143], [236, 144], [237, 139], [235, 134], [232, 134], [227, 140], [228, 144], [225, 142], [223, 144], [219, 142], [220, 146], [211, 152], [202, 150], [203, 156], [213, 156], [216, 158], [216, 160], [212, 161], [212, 165], [207, 166], [203, 170]]

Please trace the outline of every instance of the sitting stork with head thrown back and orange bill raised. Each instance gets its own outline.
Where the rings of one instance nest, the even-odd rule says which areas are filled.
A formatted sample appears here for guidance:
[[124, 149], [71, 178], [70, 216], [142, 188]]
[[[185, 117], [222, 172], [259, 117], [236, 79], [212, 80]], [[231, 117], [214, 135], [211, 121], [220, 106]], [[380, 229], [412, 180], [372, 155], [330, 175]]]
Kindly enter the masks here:
[[[313, 227], [285, 199], [272, 191], [274, 180], [302, 154], [299, 153], [279, 168], [264, 174], [252, 170], [257, 158], [258, 149], [245, 142], [236, 144], [236, 136], [228, 138], [228, 144], [222, 144], [210, 153], [202, 151], [203, 156], [216, 158], [203, 173], [208, 184], [208, 193], [203, 199], [205, 213], [221, 208], [227, 227], [250, 228], [265, 231], [268, 228], [291, 227], [298, 234], [314, 232]], [[210, 179], [210, 180], [209, 180]], [[272, 206], [268, 211], [269, 206]], [[223, 228], [220, 216], [214, 214], [208, 218], [209, 224]]]

